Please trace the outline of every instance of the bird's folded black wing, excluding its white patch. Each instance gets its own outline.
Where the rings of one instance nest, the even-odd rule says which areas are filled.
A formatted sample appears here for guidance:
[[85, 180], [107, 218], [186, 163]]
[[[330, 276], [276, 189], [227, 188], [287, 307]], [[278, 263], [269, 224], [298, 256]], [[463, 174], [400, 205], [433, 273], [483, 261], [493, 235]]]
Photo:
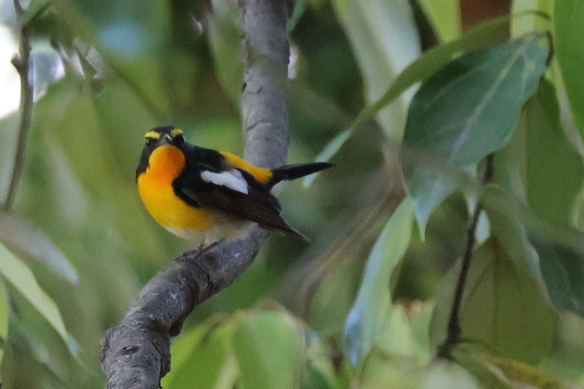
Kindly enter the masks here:
[[201, 179], [205, 166], [189, 166], [173, 182], [175, 194], [192, 206], [213, 208], [232, 218], [249, 220], [266, 229], [281, 230], [303, 237], [288, 225], [280, 215], [281, 205], [269, 188], [255, 180], [247, 171], [240, 170], [248, 182], [248, 193], [232, 190], [223, 185]]

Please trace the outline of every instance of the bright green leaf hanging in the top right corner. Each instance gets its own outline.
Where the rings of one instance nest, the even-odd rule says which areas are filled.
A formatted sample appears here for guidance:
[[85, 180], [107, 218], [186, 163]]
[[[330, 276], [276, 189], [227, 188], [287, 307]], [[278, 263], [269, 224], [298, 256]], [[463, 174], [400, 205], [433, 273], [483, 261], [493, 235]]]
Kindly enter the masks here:
[[583, 25], [584, 3], [579, 0], [555, 2], [555, 50], [580, 136], [584, 136]]

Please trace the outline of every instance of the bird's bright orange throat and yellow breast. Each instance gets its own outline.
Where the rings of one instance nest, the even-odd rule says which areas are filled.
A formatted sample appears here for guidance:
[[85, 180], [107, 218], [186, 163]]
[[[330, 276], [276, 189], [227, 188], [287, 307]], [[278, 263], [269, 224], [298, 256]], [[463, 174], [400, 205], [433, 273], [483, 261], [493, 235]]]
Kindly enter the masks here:
[[160, 146], [152, 152], [148, 165], [138, 176], [138, 192], [154, 220], [179, 236], [206, 230], [213, 222], [210, 211], [186, 204], [172, 188], [172, 181], [185, 167], [183, 153], [172, 145]]

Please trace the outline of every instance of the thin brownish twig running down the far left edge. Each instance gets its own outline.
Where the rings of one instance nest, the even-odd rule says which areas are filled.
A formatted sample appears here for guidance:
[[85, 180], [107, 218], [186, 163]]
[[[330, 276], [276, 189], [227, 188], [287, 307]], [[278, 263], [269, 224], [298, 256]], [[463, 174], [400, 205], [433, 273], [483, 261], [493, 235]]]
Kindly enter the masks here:
[[[20, 6], [19, 0], [14, 0], [16, 18], [22, 23], [25, 11]], [[12, 176], [8, 187], [8, 193], [2, 208], [11, 208], [16, 195], [16, 188], [25, 162], [26, 142], [30, 129], [30, 118], [33, 108], [33, 88], [29, 82], [29, 59], [30, 59], [30, 33], [27, 27], [20, 25], [20, 48], [19, 55], [12, 59], [12, 65], [20, 75], [20, 128], [18, 131], [18, 143], [16, 144], [16, 154], [12, 167]]]

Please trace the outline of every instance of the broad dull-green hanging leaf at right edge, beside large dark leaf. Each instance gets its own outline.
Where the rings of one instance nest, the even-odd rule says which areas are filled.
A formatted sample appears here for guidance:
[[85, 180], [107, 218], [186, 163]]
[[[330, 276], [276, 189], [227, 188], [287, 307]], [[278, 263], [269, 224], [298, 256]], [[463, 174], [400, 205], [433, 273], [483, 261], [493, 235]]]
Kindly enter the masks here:
[[515, 135], [495, 155], [493, 182], [529, 204], [541, 218], [577, 224], [582, 158], [572, 148], [560, 122], [555, 90], [542, 80], [527, 101]]

